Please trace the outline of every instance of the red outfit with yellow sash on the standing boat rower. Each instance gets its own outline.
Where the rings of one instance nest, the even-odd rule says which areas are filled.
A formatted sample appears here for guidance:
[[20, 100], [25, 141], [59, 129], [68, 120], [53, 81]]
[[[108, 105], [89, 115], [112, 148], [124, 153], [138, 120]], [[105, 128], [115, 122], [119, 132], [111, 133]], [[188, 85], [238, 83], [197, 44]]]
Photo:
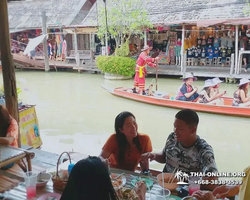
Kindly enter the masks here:
[[145, 89], [145, 75], [147, 73], [145, 65], [156, 67], [155, 58], [151, 58], [146, 52], [142, 52], [136, 62], [134, 87], [139, 87], [141, 91]]

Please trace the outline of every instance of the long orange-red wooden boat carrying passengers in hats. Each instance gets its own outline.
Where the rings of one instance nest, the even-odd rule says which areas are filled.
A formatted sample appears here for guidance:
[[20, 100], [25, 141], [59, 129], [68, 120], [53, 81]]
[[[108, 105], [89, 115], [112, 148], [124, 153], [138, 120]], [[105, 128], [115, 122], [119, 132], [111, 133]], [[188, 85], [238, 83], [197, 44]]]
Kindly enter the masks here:
[[159, 92], [157, 96], [146, 96], [146, 95], [132, 93], [131, 88], [117, 87], [111, 89], [104, 86], [102, 87], [115, 96], [131, 99], [134, 101], [140, 101], [148, 104], [165, 106], [170, 108], [179, 108], [179, 109], [188, 108], [195, 111], [222, 114], [222, 115], [250, 117], [250, 108], [240, 108], [231, 106], [233, 99], [228, 97], [223, 98], [225, 105], [216, 106], [216, 105], [200, 104], [195, 102], [178, 101], [172, 98], [166, 99], [161, 97], [161, 95], [159, 95], [160, 94]]

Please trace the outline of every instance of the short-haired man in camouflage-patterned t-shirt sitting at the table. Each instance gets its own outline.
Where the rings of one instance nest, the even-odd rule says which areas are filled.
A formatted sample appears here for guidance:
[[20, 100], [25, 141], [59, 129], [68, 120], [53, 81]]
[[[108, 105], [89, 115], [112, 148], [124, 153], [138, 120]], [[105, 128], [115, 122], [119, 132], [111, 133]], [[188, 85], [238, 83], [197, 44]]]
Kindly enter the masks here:
[[[141, 162], [148, 162], [150, 159], [165, 163], [163, 172], [167, 173], [175, 173], [176, 170], [185, 173], [218, 172], [213, 148], [196, 134], [198, 123], [199, 117], [195, 111], [190, 109], [179, 111], [175, 115], [174, 132], [168, 136], [163, 151], [145, 153], [141, 157]], [[210, 185], [208, 188], [215, 187]]]

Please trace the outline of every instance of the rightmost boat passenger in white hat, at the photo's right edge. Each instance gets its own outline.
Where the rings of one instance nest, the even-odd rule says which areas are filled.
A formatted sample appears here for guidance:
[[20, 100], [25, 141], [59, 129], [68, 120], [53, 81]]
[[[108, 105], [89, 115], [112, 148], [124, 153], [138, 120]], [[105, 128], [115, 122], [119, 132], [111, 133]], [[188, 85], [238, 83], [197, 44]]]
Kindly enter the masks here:
[[240, 79], [239, 88], [234, 92], [233, 106], [250, 107], [250, 96], [247, 96], [249, 83], [246, 78]]

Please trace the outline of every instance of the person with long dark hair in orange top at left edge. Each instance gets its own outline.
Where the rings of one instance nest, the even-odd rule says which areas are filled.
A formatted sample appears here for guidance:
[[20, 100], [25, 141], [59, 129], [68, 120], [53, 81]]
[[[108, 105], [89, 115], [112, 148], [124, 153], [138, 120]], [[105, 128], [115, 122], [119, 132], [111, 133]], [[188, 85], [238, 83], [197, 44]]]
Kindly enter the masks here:
[[2, 105], [0, 105], [0, 145], [18, 147], [17, 121]]

